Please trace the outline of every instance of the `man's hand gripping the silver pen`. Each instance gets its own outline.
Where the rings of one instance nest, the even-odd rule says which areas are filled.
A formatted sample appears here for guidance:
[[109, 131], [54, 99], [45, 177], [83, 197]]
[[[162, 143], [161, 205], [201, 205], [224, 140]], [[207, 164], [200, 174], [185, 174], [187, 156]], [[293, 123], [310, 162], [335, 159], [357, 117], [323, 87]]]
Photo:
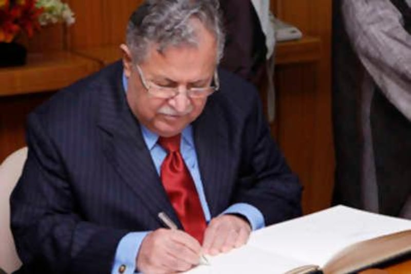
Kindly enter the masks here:
[[137, 256], [137, 269], [144, 273], [186, 271], [200, 260], [201, 246], [181, 230], [157, 229], [145, 236]]

